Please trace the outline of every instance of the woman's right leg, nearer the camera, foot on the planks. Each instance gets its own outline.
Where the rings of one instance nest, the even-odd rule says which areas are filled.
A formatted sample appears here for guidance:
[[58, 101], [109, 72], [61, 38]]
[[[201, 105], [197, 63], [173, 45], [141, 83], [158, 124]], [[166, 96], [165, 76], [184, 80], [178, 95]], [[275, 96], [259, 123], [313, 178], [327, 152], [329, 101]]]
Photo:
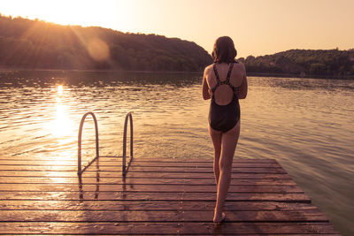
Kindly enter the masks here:
[[221, 156], [219, 160], [219, 184], [218, 194], [216, 200], [216, 207], [214, 211], [214, 222], [219, 222], [222, 219], [222, 212], [224, 211], [224, 203], [227, 198], [228, 187], [230, 186], [232, 163], [235, 154], [235, 148], [238, 138], [240, 136], [240, 121], [236, 126], [223, 133], [221, 137]]

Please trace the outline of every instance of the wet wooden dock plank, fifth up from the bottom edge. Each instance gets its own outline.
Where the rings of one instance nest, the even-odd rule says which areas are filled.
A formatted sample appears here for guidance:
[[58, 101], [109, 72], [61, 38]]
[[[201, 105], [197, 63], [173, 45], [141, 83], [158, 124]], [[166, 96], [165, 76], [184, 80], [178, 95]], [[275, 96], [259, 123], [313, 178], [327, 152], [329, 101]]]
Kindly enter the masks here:
[[[4, 191], [31, 191], [31, 192], [78, 192], [95, 191], [97, 185], [50, 185], [50, 184], [0, 184], [0, 192]], [[178, 185], [178, 184], [161, 184], [161, 185], [99, 185], [100, 192], [186, 192], [186, 193], [214, 193], [215, 185]], [[304, 193], [298, 186], [230, 186], [228, 193]]]

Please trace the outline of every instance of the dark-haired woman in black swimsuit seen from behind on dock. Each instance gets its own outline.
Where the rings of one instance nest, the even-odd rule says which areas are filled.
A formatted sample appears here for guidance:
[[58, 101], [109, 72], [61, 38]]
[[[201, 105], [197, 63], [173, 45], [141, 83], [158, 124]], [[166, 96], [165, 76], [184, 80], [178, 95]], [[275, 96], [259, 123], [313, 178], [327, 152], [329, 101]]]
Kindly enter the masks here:
[[214, 223], [225, 219], [224, 203], [230, 186], [235, 148], [240, 136], [239, 99], [246, 98], [247, 77], [242, 63], [235, 61], [237, 51], [230, 37], [219, 37], [212, 50], [214, 63], [204, 70], [203, 98], [212, 98], [209, 133], [214, 146], [214, 175], [217, 199]]

